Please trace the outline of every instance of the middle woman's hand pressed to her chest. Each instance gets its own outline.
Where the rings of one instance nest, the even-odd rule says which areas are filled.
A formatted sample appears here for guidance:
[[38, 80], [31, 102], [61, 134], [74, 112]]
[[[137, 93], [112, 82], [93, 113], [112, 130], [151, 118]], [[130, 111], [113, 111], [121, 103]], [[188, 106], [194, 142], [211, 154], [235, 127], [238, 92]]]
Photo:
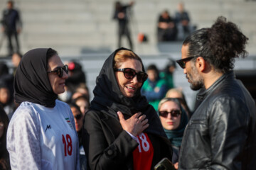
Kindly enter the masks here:
[[141, 112], [135, 113], [127, 120], [124, 119], [124, 115], [120, 111], [117, 112], [117, 115], [122, 128], [134, 136], [141, 134], [143, 130], [149, 127], [149, 120], [147, 120], [146, 115], [142, 115]]

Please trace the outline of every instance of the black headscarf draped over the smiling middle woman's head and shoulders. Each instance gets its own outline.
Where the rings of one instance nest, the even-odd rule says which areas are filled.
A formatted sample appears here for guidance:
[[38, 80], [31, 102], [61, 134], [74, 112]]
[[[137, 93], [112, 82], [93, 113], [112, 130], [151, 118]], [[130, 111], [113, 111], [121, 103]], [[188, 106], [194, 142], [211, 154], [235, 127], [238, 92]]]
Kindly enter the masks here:
[[[93, 90], [95, 97], [91, 102], [90, 109], [101, 111], [117, 120], [117, 111], [121, 111], [126, 119], [140, 111], [149, 120], [149, 128], [145, 132], [166, 137], [159, 116], [146, 101], [145, 96], [141, 95], [141, 88], [137, 89], [132, 98], [124, 96], [120, 91], [113, 69], [114, 56], [119, 50], [128, 49], [121, 47], [115, 50], [103, 64], [100, 74], [96, 79], [96, 86]], [[142, 70], [145, 72], [143, 64]]]

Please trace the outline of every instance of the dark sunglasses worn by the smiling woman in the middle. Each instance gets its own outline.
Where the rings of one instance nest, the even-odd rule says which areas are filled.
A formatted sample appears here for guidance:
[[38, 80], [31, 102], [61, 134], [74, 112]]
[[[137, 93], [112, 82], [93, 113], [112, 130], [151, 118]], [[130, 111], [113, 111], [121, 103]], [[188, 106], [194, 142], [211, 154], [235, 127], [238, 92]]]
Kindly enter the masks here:
[[135, 70], [131, 68], [114, 69], [114, 72], [123, 72], [124, 77], [127, 79], [133, 79], [135, 76], [137, 76], [137, 80], [140, 83], [143, 83], [144, 81], [146, 81], [148, 77], [148, 75], [145, 72], [135, 72]]

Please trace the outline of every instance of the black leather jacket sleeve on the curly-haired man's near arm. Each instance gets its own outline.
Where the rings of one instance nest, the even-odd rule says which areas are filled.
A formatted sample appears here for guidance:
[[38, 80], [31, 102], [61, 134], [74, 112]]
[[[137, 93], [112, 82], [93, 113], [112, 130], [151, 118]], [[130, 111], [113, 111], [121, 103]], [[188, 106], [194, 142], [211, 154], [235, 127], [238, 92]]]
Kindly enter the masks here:
[[223, 97], [210, 106], [210, 169], [240, 169], [238, 157], [248, 137], [250, 113], [242, 100]]

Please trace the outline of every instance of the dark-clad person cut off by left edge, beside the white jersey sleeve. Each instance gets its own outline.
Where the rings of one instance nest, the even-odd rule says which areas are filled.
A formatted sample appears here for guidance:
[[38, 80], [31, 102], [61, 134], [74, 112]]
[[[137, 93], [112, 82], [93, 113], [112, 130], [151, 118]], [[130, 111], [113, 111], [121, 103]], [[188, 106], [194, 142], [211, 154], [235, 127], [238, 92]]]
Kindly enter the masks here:
[[11, 170], [9, 152], [6, 149], [6, 133], [9, 125], [9, 118], [4, 108], [0, 106], [0, 169]]

